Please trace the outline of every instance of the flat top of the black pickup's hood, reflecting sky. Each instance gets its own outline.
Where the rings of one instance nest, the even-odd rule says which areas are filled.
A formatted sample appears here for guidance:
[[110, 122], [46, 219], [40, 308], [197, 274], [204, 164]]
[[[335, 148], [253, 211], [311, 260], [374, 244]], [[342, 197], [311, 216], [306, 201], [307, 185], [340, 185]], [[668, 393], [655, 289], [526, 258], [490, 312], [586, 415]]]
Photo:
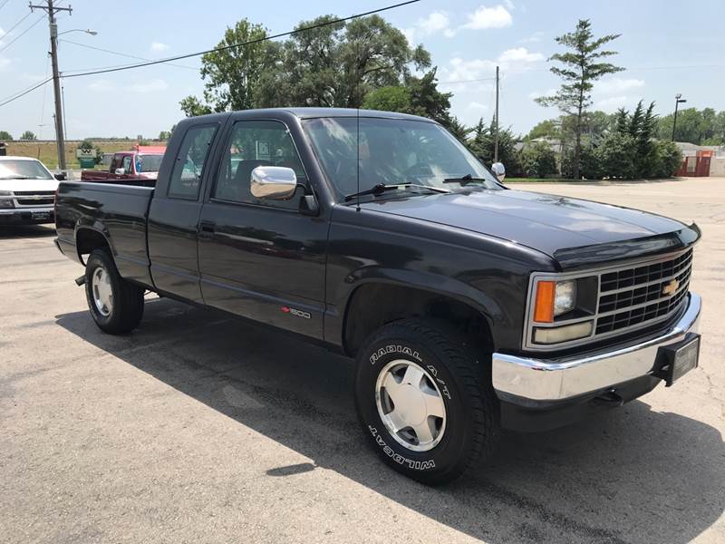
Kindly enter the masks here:
[[363, 209], [432, 221], [513, 241], [550, 257], [556, 251], [684, 228], [637, 209], [520, 190], [475, 190], [366, 202]]

